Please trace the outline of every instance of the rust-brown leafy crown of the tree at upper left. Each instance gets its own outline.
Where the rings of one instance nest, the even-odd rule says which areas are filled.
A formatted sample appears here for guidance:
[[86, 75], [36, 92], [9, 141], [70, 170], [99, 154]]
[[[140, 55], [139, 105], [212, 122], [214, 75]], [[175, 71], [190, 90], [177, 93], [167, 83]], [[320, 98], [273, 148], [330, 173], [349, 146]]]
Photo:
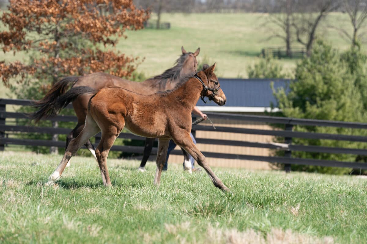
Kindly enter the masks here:
[[56, 82], [66, 75], [95, 71], [129, 76], [137, 58], [107, 50], [124, 32], [139, 30], [149, 13], [132, 0], [11, 0], [1, 16], [7, 30], [0, 32], [5, 52], [27, 52], [29, 63], [0, 60], [0, 77], [6, 86], [35, 77]]

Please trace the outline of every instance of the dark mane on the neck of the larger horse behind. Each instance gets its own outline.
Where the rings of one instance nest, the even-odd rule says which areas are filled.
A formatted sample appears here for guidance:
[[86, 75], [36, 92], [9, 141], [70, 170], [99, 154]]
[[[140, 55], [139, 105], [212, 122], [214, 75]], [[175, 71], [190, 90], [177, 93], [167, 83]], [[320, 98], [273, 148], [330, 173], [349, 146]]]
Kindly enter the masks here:
[[[185, 54], [182, 54], [174, 63], [174, 67], [169, 68], [168, 70], [164, 71], [163, 74], [156, 75], [146, 81], [151, 82], [152, 87], [159, 86], [160, 90], [163, 90], [168, 80], [176, 80], [180, 76], [180, 72], [182, 70], [183, 64], [185, 63], [186, 58], [189, 56], [189, 54], [193, 54], [192, 52], [188, 52]], [[187, 79], [186, 79], [187, 80]], [[182, 82], [182, 79], [180, 79], [179, 83]]]

